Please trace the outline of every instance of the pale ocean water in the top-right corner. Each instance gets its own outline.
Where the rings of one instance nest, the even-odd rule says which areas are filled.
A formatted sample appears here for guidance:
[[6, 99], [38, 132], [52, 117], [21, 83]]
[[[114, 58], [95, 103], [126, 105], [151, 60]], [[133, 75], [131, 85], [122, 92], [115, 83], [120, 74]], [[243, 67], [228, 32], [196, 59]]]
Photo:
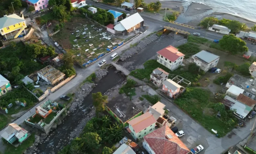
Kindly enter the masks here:
[[214, 12], [229, 13], [256, 22], [256, 0], [183, 0], [212, 7]]

